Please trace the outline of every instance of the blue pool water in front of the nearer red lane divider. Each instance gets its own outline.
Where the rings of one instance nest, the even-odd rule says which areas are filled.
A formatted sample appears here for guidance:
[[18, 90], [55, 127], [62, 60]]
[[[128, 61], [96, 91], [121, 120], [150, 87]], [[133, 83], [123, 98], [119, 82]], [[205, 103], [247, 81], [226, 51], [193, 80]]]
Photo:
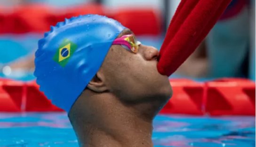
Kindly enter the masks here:
[[[255, 147], [255, 117], [158, 115], [154, 147]], [[66, 113], [0, 113], [0, 147], [78, 147]]]

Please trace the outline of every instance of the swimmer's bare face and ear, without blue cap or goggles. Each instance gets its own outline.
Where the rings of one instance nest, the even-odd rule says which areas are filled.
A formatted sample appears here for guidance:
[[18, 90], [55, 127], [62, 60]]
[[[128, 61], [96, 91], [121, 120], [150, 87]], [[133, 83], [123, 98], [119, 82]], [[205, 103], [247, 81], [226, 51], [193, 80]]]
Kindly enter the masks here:
[[[130, 29], [124, 29], [118, 38], [127, 34], [135, 38], [136, 44], [136, 37]], [[110, 92], [127, 104], [169, 98], [171, 88], [168, 77], [157, 71], [158, 55], [156, 48], [144, 44], [138, 45], [136, 53], [124, 45], [112, 45], [87, 88], [99, 93]]]

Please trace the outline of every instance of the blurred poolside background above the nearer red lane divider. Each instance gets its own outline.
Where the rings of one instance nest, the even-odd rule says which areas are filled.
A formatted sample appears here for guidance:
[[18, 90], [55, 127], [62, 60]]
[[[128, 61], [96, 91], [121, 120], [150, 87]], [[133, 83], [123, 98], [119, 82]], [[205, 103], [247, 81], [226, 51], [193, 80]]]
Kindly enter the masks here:
[[[0, 77], [33, 80], [37, 41], [50, 25], [107, 15], [160, 49], [180, 0], [0, 0]], [[243, 77], [255, 81], [255, 0], [232, 0], [215, 27], [171, 77]]]

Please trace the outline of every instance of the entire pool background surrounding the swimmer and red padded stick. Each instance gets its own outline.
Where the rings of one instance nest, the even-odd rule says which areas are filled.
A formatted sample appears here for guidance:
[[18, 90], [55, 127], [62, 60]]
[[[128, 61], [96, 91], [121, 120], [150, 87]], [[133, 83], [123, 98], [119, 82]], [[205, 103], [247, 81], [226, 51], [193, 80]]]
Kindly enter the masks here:
[[[72, 16], [106, 15], [160, 49], [179, 2], [0, 0], [0, 147], [78, 147], [66, 113], [34, 81], [37, 42], [51, 25]], [[174, 95], [154, 119], [154, 147], [255, 147], [255, 50], [255, 0], [232, 0], [171, 75]], [[213, 80], [222, 77], [253, 82]]]

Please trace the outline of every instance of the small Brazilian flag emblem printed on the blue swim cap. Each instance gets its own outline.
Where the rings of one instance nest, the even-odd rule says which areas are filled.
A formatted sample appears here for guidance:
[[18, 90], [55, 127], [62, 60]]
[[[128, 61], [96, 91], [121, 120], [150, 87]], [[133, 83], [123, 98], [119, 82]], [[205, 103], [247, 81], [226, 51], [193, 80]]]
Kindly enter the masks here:
[[65, 39], [56, 51], [53, 60], [62, 67], [66, 66], [68, 60], [72, 57], [72, 54], [75, 52], [76, 48], [76, 44], [72, 43], [68, 39]]

